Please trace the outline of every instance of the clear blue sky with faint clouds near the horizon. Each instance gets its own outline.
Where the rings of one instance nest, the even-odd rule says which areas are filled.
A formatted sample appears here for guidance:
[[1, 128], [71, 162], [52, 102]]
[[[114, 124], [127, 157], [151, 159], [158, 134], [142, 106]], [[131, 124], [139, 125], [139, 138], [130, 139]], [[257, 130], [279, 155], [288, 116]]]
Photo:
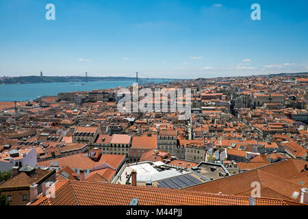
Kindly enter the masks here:
[[0, 76], [307, 72], [307, 12], [307, 0], [1, 0]]

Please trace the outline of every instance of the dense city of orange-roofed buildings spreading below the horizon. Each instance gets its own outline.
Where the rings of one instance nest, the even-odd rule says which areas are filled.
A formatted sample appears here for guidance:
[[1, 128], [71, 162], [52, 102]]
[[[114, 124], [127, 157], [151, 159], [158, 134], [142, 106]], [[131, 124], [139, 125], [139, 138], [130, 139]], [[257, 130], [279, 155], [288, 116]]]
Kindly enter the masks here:
[[0, 103], [1, 194], [10, 205], [305, 205], [307, 86], [305, 75], [140, 86], [190, 88], [184, 120], [119, 112], [120, 88]]

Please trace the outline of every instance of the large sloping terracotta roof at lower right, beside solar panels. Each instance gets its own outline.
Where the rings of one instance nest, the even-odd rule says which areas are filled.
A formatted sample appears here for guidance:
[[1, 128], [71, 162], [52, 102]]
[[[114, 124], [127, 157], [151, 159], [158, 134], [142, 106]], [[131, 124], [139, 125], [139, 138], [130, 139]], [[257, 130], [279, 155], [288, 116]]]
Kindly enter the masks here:
[[308, 181], [307, 172], [305, 171], [305, 165], [307, 164], [308, 162], [298, 159], [289, 159], [195, 185], [184, 190], [251, 196], [251, 190], [254, 188], [251, 187], [251, 183], [259, 182], [262, 197], [298, 201], [300, 197], [298, 196], [294, 199], [292, 194], [294, 192], [300, 193], [300, 188], [305, 187]]

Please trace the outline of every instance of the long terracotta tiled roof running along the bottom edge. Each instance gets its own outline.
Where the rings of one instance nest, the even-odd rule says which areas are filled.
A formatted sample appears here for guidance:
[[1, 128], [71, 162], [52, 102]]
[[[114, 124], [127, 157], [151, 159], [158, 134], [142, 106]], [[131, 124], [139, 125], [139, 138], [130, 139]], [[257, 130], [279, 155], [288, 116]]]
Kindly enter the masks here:
[[[31, 205], [249, 205], [248, 197], [207, 194], [87, 181], [57, 181], [55, 198], [40, 197]], [[275, 198], [255, 198], [255, 205], [300, 205]]]

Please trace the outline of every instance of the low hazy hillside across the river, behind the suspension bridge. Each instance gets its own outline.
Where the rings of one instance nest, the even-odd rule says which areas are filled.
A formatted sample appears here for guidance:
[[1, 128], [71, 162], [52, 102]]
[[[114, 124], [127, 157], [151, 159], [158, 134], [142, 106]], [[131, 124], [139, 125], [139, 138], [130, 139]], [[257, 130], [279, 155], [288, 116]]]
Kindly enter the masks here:
[[[88, 81], [126, 81], [133, 80], [134, 77], [88, 77]], [[64, 76], [21, 76], [21, 77], [1, 77], [0, 83], [53, 83], [53, 82], [85, 82], [86, 77]]]

